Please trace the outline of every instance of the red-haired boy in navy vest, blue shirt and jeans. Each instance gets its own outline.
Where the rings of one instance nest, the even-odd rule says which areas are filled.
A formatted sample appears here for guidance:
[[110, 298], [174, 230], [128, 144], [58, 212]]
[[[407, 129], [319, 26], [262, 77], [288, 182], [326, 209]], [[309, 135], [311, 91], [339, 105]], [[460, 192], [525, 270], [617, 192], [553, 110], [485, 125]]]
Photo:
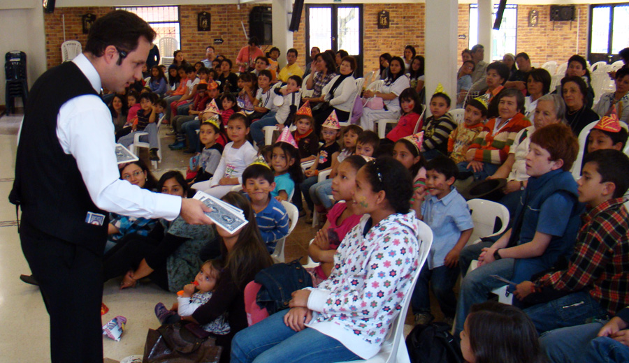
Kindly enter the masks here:
[[[463, 280], [456, 332], [463, 330], [472, 304], [484, 302], [491, 290], [505, 286], [491, 275], [521, 283], [572, 254], [584, 210], [570, 173], [578, 149], [577, 138], [565, 124], [544, 126], [531, 135], [526, 156], [530, 178], [512, 217], [512, 228], [496, 242], [473, 244], [461, 251]], [[475, 259], [479, 260], [478, 268], [465, 274]]]

